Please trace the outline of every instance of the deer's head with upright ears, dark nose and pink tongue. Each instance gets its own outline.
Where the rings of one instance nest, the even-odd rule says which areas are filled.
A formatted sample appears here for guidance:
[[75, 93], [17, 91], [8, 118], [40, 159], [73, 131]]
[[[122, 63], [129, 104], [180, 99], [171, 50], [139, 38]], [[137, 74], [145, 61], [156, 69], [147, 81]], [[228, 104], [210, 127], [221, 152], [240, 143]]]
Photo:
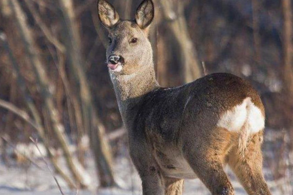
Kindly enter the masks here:
[[98, 0], [98, 13], [109, 32], [106, 59], [110, 72], [130, 75], [146, 66], [153, 66], [152, 48], [147, 38], [154, 18], [151, 0], [144, 0], [138, 6], [135, 20], [120, 20], [113, 5], [105, 0]]

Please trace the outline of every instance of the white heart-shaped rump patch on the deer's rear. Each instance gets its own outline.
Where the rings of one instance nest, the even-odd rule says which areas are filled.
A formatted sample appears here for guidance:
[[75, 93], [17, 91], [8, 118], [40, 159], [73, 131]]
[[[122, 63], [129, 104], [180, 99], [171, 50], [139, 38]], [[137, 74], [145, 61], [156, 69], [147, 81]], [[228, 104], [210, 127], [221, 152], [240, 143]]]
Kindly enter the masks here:
[[226, 111], [217, 123], [218, 127], [231, 132], [239, 132], [244, 125], [247, 134], [257, 133], [265, 127], [265, 117], [251, 98], [245, 98], [241, 104]]

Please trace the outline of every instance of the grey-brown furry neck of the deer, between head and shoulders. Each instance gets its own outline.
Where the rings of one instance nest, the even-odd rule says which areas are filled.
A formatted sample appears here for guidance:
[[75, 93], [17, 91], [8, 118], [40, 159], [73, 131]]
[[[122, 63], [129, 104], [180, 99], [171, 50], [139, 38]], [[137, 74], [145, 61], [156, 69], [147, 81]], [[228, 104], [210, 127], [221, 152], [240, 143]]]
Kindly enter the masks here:
[[125, 124], [127, 118], [134, 115], [133, 112], [136, 112], [135, 106], [141, 102], [145, 95], [160, 87], [155, 78], [153, 64], [147, 65], [131, 75], [115, 75], [110, 72], [110, 77]]

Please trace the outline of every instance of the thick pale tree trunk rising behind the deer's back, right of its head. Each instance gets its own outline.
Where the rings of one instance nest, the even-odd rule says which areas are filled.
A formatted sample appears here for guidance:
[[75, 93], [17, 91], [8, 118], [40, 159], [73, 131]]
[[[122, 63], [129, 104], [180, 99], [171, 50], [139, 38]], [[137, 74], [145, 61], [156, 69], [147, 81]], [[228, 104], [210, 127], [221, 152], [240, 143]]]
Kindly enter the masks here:
[[[168, 27], [178, 44], [184, 81], [188, 83], [201, 77], [201, 70], [196, 50], [188, 34], [187, 21], [184, 16], [184, 3], [181, 1], [173, 2], [171, 0], [160, 0], [165, 20], [167, 20]], [[174, 11], [175, 6], [177, 13]]]

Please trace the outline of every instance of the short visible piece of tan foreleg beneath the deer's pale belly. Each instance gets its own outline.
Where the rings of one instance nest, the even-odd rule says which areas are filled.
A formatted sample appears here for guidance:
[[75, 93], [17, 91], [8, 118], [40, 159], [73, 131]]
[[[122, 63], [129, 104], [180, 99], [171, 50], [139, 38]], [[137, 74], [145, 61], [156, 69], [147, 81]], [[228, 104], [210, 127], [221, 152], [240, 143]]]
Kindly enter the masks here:
[[165, 195], [182, 195], [184, 179], [165, 177]]

